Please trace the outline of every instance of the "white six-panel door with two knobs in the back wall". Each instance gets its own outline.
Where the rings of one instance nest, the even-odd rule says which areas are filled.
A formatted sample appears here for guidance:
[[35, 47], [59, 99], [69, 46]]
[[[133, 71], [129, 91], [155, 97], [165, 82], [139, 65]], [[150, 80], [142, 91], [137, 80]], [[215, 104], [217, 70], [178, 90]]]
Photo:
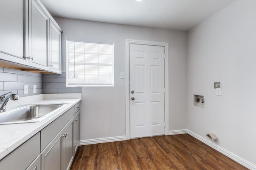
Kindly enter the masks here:
[[130, 45], [130, 137], [164, 134], [164, 47]]

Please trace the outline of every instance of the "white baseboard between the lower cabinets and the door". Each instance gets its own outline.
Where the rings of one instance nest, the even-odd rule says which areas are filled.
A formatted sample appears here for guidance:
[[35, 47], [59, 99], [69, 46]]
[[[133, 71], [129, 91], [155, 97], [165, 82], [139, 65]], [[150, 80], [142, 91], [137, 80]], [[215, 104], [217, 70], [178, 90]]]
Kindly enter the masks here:
[[105, 138], [97, 138], [97, 139], [86, 139], [86, 140], [81, 140], [80, 143], [79, 143], [79, 146], [96, 144], [96, 143], [125, 141], [125, 140], [126, 140], [126, 136], [105, 137]]

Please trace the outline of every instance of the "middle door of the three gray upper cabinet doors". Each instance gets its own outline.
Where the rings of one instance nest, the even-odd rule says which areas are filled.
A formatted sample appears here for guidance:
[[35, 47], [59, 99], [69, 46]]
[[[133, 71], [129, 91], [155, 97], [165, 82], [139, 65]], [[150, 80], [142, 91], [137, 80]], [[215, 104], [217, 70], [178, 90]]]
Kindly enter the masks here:
[[29, 65], [43, 70], [50, 70], [49, 21], [36, 0], [29, 0]]

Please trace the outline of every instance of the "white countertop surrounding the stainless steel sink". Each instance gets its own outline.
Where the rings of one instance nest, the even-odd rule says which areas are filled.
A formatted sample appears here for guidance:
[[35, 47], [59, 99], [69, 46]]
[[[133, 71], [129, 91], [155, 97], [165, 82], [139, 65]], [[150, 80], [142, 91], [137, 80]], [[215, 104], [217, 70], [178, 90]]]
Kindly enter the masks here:
[[49, 113], [46, 116], [46, 118], [39, 122], [0, 125], [0, 159], [2, 159], [4, 156], [12, 152], [22, 143], [24, 143], [32, 136], [34, 136], [36, 133], [41, 131], [44, 127], [46, 127], [60, 115], [65, 113], [68, 109], [77, 104], [80, 100], [81, 98], [50, 99], [30, 102], [29, 104], [68, 104], [63, 107], [60, 107], [52, 113]]

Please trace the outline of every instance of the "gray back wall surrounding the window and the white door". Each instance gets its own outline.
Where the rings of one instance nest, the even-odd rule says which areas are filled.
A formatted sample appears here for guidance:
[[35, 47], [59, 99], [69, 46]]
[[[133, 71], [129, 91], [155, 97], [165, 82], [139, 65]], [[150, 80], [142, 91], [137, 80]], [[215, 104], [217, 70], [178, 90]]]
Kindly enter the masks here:
[[115, 86], [82, 88], [81, 140], [126, 135], [125, 79], [120, 79], [120, 72], [125, 72], [126, 66], [126, 39], [169, 43], [169, 130], [187, 129], [186, 32], [66, 18], [55, 18], [55, 20], [64, 31], [62, 34], [64, 72], [66, 71], [66, 39], [114, 43]]

